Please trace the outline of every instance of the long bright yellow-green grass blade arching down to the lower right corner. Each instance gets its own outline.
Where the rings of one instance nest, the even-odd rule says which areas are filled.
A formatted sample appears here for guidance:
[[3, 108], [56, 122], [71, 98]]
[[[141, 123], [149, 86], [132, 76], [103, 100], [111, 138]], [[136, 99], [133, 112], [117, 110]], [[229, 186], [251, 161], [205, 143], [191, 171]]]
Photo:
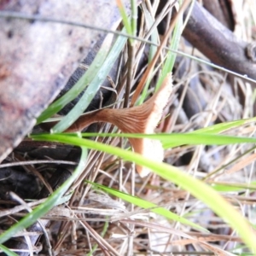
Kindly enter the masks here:
[[31, 137], [34, 140], [55, 141], [80, 147], [84, 146], [108, 154], [114, 154], [124, 160], [134, 161], [137, 165], [147, 166], [154, 173], [160, 175], [160, 177], [163, 177], [172, 183], [176, 183], [181, 186], [182, 189], [185, 189], [191, 193], [191, 195], [194, 195], [197, 199], [204, 202], [208, 207], [212, 208], [212, 211], [216, 212], [219, 217], [230, 224], [230, 226], [238, 232], [247, 246], [256, 252], [256, 236], [246, 218], [244, 218], [240, 212], [237, 212], [228, 201], [225, 201], [221, 195], [206, 183], [201, 182], [195, 177], [189, 176], [187, 173], [180, 171], [176, 167], [150, 160], [140, 154], [129, 152], [121, 148], [97, 143], [80, 137], [68, 136], [67, 134], [32, 135]]

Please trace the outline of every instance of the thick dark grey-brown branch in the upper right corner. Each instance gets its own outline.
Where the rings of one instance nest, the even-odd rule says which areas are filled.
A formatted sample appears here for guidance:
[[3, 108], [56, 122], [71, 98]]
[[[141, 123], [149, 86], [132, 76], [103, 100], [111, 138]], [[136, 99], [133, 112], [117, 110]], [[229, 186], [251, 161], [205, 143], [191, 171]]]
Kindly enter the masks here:
[[197, 2], [183, 36], [215, 64], [256, 79], [256, 62], [246, 54], [248, 44], [236, 38]]

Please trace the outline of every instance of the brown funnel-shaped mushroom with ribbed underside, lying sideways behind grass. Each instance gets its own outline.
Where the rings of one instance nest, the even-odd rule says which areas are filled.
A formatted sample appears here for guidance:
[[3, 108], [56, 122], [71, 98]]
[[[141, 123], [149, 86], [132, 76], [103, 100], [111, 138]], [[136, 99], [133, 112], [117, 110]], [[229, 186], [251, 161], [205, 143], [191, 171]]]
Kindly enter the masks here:
[[[147, 102], [132, 108], [102, 108], [87, 113], [71, 125], [67, 131], [82, 131], [86, 126], [96, 122], [106, 122], [116, 125], [124, 133], [153, 134], [154, 128], [161, 119], [172, 92], [172, 73], [167, 74], [160, 89]], [[164, 149], [158, 140], [150, 138], [128, 138], [133, 150], [149, 158], [162, 161]], [[145, 177], [150, 169], [136, 166], [141, 177]]]

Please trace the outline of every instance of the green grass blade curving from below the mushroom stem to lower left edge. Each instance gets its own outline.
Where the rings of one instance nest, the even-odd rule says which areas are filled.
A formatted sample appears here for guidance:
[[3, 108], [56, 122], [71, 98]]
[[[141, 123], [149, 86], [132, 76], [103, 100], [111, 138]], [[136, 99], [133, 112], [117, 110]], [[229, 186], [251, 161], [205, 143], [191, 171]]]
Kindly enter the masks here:
[[73, 175], [67, 179], [65, 183], [61, 185], [59, 189], [56, 189], [52, 195], [49, 195], [49, 198], [44, 201], [41, 205], [36, 207], [32, 212], [26, 214], [24, 218], [14, 224], [9, 230], [4, 231], [0, 235], [0, 244], [4, 241], [9, 240], [12, 236], [14, 236], [20, 230], [23, 230], [33, 223], [35, 223], [39, 218], [42, 218], [45, 213], [49, 212], [50, 209], [55, 207], [61, 200], [62, 196], [67, 192], [72, 183], [79, 177], [81, 172], [84, 171], [85, 163], [87, 160], [87, 148], [81, 147], [82, 153], [79, 161], [79, 166], [73, 172]]

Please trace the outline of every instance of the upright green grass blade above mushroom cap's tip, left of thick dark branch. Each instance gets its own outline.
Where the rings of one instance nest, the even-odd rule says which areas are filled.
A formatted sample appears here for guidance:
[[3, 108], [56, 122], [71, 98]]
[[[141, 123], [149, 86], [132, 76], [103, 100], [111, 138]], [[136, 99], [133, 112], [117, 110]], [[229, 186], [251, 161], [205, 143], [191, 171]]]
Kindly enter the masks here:
[[[181, 2], [182, 1], [179, 1], [180, 4]], [[179, 44], [182, 32], [183, 32], [183, 15], [179, 15], [177, 18], [176, 25], [173, 29], [172, 40], [170, 41], [170, 49], [172, 50], [178, 49], [178, 44]], [[172, 68], [174, 66], [176, 56], [177, 54], [174, 51], [168, 51], [164, 67], [160, 74], [160, 79], [158, 79], [157, 84], [155, 86], [155, 90], [159, 89], [160, 84], [162, 84], [163, 80], [166, 78], [167, 73], [172, 72]]]

